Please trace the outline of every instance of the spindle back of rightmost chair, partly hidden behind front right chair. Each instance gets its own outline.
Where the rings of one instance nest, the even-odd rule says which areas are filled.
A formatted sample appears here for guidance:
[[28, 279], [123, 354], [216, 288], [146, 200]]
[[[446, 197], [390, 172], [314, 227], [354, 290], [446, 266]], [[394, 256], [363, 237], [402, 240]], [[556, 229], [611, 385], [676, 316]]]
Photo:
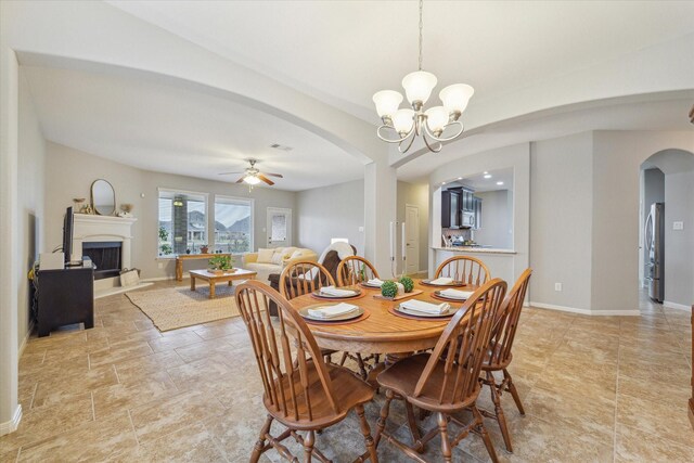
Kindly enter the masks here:
[[511, 359], [511, 348], [513, 339], [518, 329], [518, 320], [523, 310], [523, 301], [528, 291], [532, 269], [526, 269], [509, 292], [499, 310], [493, 329], [491, 330], [491, 342], [489, 344], [489, 364], [502, 364]]

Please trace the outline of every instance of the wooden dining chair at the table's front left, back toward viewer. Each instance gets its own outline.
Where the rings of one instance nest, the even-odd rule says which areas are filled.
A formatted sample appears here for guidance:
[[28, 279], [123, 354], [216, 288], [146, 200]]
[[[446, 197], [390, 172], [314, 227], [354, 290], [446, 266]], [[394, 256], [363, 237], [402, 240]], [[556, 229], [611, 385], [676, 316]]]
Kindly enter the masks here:
[[[270, 301], [278, 307], [277, 323], [270, 316]], [[236, 287], [236, 306], [250, 336], [265, 388], [262, 402], [268, 411], [250, 462], [257, 462], [271, 448], [283, 458], [298, 462], [282, 443], [287, 437], [304, 446], [306, 462], [313, 456], [327, 462], [325, 455], [313, 447], [316, 433], [343, 421], [355, 410], [367, 454], [377, 463], [363, 408], [373, 399], [373, 388], [349, 370], [325, 364], [304, 319], [270, 286], [257, 281], [240, 284]], [[273, 421], [287, 429], [272, 436], [270, 427]], [[304, 436], [298, 432], [305, 432]]]

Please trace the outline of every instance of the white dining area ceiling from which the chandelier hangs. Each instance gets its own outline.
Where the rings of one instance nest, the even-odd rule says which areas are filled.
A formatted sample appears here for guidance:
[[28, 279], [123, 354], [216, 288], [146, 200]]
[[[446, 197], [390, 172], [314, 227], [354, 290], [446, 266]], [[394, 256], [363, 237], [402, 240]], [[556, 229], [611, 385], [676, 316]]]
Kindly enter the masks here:
[[[368, 121], [416, 69], [415, 1], [108, 1]], [[424, 68], [485, 100], [694, 33], [694, 2], [424, 2]]]

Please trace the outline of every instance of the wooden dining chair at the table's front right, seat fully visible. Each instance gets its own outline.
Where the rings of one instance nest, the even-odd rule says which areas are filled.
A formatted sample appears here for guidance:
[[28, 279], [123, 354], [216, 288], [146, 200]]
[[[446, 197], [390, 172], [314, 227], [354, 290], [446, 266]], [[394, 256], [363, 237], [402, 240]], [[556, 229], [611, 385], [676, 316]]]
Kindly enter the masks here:
[[[408, 456], [426, 462], [419, 452], [424, 449], [426, 442], [440, 434], [444, 459], [450, 462], [451, 442], [457, 446], [472, 432], [481, 436], [489, 456], [493, 462], [498, 461], [475, 402], [481, 388], [481, 362], [505, 293], [506, 283], [501, 279], [485, 283], [453, 316], [432, 353], [407, 357], [378, 375], [378, 384], [386, 389], [386, 400], [378, 419], [376, 445], [383, 436]], [[413, 436], [413, 447], [397, 440], [385, 430], [390, 402], [395, 398], [404, 399], [411, 406], [437, 414], [438, 426], [422, 437]], [[463, 410], [472, 411], [470, 423], [463, 423], [452, 415]], [[453, 438], [449, 437], [451, 422], [462, 427]]]

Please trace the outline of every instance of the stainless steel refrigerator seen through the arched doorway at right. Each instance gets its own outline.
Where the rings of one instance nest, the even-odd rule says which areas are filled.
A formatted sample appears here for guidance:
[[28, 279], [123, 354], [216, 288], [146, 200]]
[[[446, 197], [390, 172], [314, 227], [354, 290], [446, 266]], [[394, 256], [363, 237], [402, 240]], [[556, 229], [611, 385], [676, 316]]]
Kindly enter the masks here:
[[648, 296], [663, 303], [665, 296], [665, 203], [653, 203], [646, 219], [644, 239], [646, 245], [645, 278]]

